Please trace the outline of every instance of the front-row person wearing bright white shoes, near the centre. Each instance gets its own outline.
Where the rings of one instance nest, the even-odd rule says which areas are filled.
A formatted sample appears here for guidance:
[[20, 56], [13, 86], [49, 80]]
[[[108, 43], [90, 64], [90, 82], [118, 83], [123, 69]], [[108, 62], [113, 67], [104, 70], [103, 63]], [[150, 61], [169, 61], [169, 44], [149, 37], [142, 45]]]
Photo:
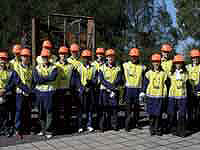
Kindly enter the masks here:
[[92, 52], [84, 50], [81, 53], [81, 64], [77, 68], [76, 83], [79, 89], [80, 105], [78, 113], [78, 132], [83, 132], [83, 114], [86, 114], [86, 127], [89, 132], [92, 132], [92, 115], [94, 109], [94, 87], [97, 81], [97, 72], [94, 66], [91, 65]]

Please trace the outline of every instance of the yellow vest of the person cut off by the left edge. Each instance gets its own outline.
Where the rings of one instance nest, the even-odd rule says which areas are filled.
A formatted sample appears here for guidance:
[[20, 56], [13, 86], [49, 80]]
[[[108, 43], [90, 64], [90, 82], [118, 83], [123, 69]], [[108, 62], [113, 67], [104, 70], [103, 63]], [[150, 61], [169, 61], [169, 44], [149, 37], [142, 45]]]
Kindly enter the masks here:
[[12, 72], [8, 70], [0, 71], [0, 89], [5, 88], [5, 86], [8, 84], [11, 74]]

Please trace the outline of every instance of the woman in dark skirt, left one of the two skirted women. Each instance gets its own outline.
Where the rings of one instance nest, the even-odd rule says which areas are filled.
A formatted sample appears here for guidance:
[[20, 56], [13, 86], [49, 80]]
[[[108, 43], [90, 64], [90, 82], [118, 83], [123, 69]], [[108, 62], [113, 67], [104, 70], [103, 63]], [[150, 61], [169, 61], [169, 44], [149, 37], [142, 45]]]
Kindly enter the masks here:
[[143, 90], [147, 97], [147, 112], [149, 113], [150, 134], [162, 135], [162, 102], [167, 96], [167, 74], [162, 70], [160, 54], [153, 54], [151, 56], [151, 61], [152, 68], [145, 73]]

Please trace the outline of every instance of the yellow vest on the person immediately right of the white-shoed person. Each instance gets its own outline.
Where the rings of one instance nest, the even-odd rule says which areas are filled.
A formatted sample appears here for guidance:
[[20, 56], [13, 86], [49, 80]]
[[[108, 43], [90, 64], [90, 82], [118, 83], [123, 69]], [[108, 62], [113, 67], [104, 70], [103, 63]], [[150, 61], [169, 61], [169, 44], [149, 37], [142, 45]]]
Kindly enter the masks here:
[[[110, 82], [113, 84], [115, 80], [117, 79], [117, 75], [119, 71], [121, 71], [121, 68], [119, 66], [116, 67], [108, 67], [105, 64], [100, 67], [100, 70], [103, 73], [104, 80]], [[118, 88], [118, 87], [117, 87]], [[102, 84], [100, 86], [100, 89], [106, 89]]]

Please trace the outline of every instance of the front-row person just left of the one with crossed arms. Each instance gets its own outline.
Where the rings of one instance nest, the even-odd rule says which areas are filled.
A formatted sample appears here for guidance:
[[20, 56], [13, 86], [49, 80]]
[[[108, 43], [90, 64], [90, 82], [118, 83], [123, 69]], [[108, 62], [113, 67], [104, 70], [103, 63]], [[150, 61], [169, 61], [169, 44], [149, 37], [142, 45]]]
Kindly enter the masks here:
[[[21, 79], [21, 82], [27, 86], [29, 90], [32, 89], [32, 66], [31, 66], [31, 51], [24, 48], [20, 53], [21, 62], [16, 67], [16, 72]], [[24, 92], [17, 86], [16, 88], [16, 135], [22, 136], [23, 132], [30, 131], [30, 111], [31, 98], [29, 93]]]

